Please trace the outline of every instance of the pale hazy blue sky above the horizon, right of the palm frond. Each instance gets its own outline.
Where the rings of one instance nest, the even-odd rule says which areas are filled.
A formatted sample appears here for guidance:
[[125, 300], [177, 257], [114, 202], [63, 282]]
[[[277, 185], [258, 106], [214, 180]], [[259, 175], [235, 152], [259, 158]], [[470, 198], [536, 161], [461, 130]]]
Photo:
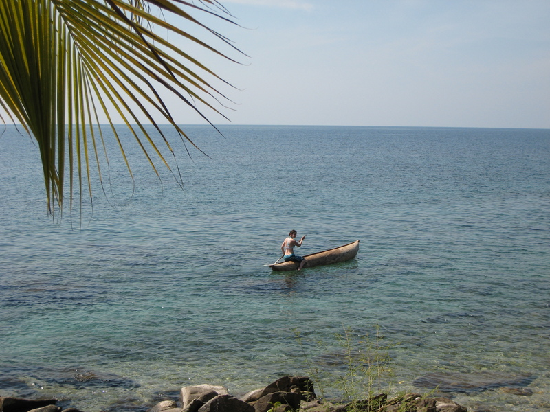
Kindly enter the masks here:
[[221, 3], [232, 124], [550, 128], [548, 0]]

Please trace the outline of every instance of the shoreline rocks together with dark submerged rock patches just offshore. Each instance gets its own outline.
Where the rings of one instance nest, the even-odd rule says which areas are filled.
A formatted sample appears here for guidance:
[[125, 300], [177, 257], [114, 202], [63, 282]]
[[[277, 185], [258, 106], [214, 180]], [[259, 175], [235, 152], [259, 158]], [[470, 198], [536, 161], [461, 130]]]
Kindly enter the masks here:
[[[74, 371], [73, 371], [74, 372]], [[55, 382], [69, 385], [92, 385], [102, 387], [126, 387], [135, 389], [140, 385], [132, 380], [110, 374], [94, 374], [78, 371], [78, 374], [61, 376]], [[532, 396], [527, 388], [535, 376], [531, 374], [504, 374], [483, 372], [461, 374], [459, 372], [438, 372], [419, 376], [412, 381], [417, 388], [432, 390], [429, 396], [421, 393], [406, 393], [388, 398], [380, 393], [369, 399], [342, 402], [319, 399], [313, 381], [306, 376], [283, 376], [265, 387], [250, 391], [243, 396], [232, 396], [228, 389], [216, 385], [193, 385], [181, 387], [178, 391], [155, 397], [157, 404], [126, 404], [124, 411], [140, 412], [466, 412], [467, 408], [457, 404], [445, 393], [479, 393], [498, 389], [514, 396]], [[437, 391], [437, 392], [436, 392]], [[241, 392], [242, 393], [242, 392]], [[60, 401], [65, 408], [58, 407], [56, 399], [30, 399], [1, 396], [0, 412], [87, 412], [67, 407], [67, 400]], [[69, 401], [70, 402], [70, 401]], [[121, 405], [119, 405], [121, 406]], [[475, 408], [473, 412], [496, 411], [493, 407]], [[115, 411], [109, 407], [105, 411]]]

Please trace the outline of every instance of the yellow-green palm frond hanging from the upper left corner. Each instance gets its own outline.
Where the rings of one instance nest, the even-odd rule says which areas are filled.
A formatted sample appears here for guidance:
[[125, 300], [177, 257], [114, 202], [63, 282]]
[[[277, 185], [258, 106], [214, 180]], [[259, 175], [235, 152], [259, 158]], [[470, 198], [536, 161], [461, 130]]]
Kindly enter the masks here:
[[130, 174], [111, 113], [131, 130], [155, 172], [152, 154], [170, 166], [140, 117], [155, 126], [170, 152], [157, 119], [188, 139], [162, 93], [176, 95], [202, 117], [197, 104], [219, 113], [224, 97], [205, 77], [221, 78], [153, 31], [229, 58], [181, 30], [199, 28], [230, 44], [191, 12], [230, 21], [215, 0], [0, 0], [0, 105], [38, 142], [50, 213], [63, 208], [66, 169], [71, 201], [77, 186], [82, 196], [87, 185], [91, 196], [91, 168], [102, 180], [99, 154], [108, 157], [99, 113]]

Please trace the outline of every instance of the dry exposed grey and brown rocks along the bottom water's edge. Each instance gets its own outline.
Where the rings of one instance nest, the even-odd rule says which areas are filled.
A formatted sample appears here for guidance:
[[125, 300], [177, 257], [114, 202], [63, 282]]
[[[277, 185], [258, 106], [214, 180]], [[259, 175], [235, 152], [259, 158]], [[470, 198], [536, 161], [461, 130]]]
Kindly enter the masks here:
[[[0, 397], [0, 412], [85, 412], [62, 409], [57, 400], [28, 400]], [[407, 393], [389, 398], [380, 393], [368, 399], [336, 404], [318, 399], [314, 384], [306, 376], [283, 376], [266, 387], [236, 398], [222, 386], [182, 387], [178, 400], [162, 400], [148, 412], [467, 412], [444, 397]]]

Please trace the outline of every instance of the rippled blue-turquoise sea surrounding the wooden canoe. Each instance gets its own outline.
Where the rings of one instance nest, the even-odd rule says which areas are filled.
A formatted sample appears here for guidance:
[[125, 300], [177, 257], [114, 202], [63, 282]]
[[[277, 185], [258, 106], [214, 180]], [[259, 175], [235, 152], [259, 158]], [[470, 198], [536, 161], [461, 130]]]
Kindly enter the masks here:
[[[143, 411], [183, 385], [311, 375], [307, 354], [339, 396], [333, 334], [380, 325], [395, 391], [432, 372], [528, 375], [533, 396], [451, 396], [550, 409], [550, 130], [186, 130], [210, 157], [176, 145], [184, 190], [131, 156], [134, 186], [113, 159], [115, 199], [95, 185], [93, 209], [61, 220], [37, 148], [1, 135], [0, 395]], [[358, 257], [272, 273], [290, 229], [300, 253], [360, 239]]]

